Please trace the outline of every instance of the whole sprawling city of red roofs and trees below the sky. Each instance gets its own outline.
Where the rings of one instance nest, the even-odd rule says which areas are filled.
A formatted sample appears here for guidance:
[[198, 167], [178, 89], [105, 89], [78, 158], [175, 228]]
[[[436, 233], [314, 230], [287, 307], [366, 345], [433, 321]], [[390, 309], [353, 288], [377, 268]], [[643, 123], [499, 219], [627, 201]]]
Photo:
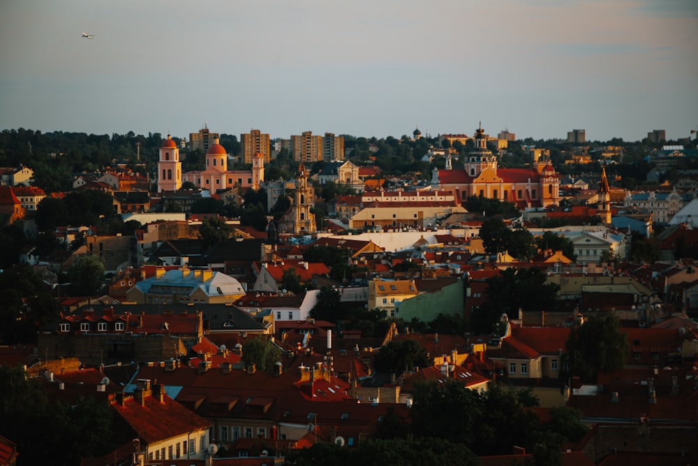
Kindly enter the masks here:
[[2, 131], [4, 464], [690, 464], [695, 136], [406, 133]]

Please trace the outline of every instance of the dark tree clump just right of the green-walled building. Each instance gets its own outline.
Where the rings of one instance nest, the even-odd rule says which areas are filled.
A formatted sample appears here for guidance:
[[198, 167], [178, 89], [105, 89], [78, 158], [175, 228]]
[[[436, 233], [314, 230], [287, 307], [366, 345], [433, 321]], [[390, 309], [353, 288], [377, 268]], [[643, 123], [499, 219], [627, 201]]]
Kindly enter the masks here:
[[487, 279], [487, 300], [473, 312], [470, 323], [477, 333], [490, 333], [501, 314], [518, 316], [524, 311], [554, 309], [560, 288], [546, 283], [547, 276], [536, 267], [507, 268]]

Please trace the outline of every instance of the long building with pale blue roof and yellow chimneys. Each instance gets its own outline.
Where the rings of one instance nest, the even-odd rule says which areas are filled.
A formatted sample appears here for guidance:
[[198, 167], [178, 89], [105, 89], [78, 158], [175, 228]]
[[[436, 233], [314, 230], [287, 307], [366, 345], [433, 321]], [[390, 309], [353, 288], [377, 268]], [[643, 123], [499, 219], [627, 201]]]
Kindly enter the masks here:
[[237, 279], [213, 270], [181, 267], [156, 269], [155, 277], [141, 280], [126, 292], [138, 304], [233, 303], [245, 291]]

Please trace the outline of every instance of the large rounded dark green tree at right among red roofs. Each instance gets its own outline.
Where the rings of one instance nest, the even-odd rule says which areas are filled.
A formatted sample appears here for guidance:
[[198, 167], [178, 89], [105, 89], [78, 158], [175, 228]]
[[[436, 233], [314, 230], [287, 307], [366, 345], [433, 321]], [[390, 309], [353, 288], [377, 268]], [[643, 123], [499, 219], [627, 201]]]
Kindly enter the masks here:
[[569, 373], [561, 376], [579, 376], [582, 381], [595, 382], [599, 371], [617, 370], [625, 365], [630, 345], [618, 317], [611, 312], [597, 312], [572, 326], [565, 350]]

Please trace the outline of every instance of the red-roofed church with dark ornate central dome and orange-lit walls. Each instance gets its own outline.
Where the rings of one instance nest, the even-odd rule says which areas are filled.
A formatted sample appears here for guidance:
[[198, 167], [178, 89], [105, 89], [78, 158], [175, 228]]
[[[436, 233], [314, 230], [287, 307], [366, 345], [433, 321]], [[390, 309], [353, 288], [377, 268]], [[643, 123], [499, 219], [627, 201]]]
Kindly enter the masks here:
[[463, 167], [434, 168], [434, 189], [450, 191], [461, 203], [470, 196], [510, 202], [519, 209], [549, 207], [560, 203], [560, 176], [550, 161], [541, 160], [531, 168], [500, 168], [497, 157], [487, 149], [487, 136], [480, 126], [475, 131], [475, 148], [463, 156]]

